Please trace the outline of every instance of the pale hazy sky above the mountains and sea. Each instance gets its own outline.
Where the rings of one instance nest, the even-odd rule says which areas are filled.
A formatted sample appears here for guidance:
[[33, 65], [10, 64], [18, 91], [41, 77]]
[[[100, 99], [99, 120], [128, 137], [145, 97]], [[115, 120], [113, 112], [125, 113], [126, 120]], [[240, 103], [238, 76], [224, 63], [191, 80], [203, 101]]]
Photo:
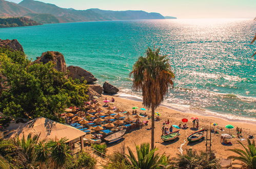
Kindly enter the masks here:
[[[19, 3], [21, 0], [8, 0]], [[144, 10], [178, 18], [253, 18], [256, 0], [41, 0], [62, 8]]]

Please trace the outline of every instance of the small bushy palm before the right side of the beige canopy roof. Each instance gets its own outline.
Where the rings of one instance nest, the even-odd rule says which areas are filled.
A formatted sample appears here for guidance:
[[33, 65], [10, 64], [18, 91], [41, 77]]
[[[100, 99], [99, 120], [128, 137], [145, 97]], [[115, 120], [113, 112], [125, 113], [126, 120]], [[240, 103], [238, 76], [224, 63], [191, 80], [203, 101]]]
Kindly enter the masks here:
[[62, 138], [60, 140], [50, 139], [47, 142], [47, 146], [50, 147], [51, 151], [51, 168], [62, 167], [68, 159], [72, 158], [72, 156], [70, 155], [69, 146], [66, 144], [67, 140], [68, 139], [66, 138]]

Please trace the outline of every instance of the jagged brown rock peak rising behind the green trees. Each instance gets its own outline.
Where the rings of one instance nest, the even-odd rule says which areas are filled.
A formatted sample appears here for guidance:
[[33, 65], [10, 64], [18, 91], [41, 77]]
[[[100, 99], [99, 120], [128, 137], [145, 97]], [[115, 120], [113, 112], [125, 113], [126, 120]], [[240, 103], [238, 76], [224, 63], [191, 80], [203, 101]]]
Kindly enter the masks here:
[[56, 64], [55, 69], [58, 71], [63, 72], [66, 74], [67, 67], [66, 67], [66, 61], [60, 52], [54, 52], [54, 51], [47, 51], [42, 53], [42, 56], [38, 57], [34, 63], [36, 62], [43, 62], [43, 64], [47, 64], [49, 61], [54, 62]]

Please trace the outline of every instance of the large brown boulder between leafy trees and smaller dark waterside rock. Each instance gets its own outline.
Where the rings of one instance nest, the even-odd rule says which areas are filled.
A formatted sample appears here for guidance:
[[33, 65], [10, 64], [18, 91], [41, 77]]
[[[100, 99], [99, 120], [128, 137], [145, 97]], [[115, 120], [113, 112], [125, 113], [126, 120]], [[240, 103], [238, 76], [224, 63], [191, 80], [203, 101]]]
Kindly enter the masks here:
[[77, 66], [69, 66], [67, 67], [68, 77], [71, 77], [72, 79], [80, 79], [81, 82], [86, 80], [87, 83], [92, 83], [93, 81], [96, 81], [97, 79], [91, 74], [91, 72], [88, 72], [80, 67]]

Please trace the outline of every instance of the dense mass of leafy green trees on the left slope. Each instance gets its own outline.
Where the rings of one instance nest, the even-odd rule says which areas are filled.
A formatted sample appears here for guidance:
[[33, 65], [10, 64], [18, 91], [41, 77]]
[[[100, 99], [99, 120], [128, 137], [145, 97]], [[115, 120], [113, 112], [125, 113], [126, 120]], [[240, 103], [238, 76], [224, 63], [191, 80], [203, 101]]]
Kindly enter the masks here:
[[0, 48], [0, 112], [11, 117], [58, 119], [67, 107], [87, 101], [88, 86], [65, 78], [54, 64], [32, 64], [23, 52]]

